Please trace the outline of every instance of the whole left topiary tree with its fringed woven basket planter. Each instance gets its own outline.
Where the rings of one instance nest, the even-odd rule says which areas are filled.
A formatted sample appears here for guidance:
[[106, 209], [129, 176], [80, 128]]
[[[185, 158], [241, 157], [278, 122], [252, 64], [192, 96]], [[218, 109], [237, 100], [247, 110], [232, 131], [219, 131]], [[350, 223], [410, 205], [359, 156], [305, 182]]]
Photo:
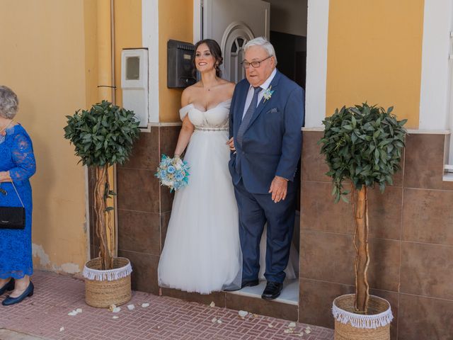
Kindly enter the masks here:
[[93, 105], [89, 111], [78, 110], [74, 115], [67, 115], [64, 137], [74, 145], [79, 162], [96, 172], [93, 203], [99, 257], [84, 267], [85, 299], [93, 307], [122, 305], [131, 297], [130, 261], [115, 257], [110, 216], [113, 207], [107, 204], [115, 193], [110, 190], [108, 168], [128, 159], [133, 141], [139, 136], [138, 126], [132, 111], [108, 101]]

